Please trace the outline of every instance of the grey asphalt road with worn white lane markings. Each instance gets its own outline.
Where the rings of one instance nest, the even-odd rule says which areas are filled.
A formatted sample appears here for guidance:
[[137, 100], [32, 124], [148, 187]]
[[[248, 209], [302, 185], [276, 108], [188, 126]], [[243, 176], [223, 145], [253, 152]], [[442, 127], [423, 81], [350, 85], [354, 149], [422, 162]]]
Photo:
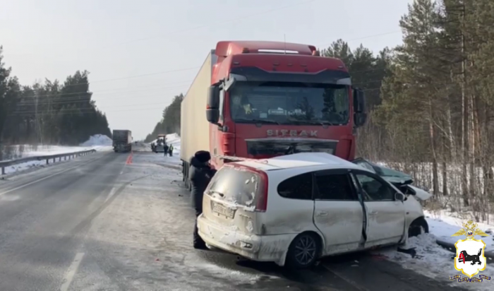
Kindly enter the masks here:
[[459, 290], [366, 253], [291, 272], [197, 251], [178, 158], [128, 156], [0, 180], [0, 290]]

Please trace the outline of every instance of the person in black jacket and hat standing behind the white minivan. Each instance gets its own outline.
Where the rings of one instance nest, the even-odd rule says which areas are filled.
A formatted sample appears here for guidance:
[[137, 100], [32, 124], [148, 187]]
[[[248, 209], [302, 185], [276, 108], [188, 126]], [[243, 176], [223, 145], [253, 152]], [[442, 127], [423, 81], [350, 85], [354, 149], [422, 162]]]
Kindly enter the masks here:
[[191, 178], [191, 202], [192, 207], [195, 209], [195, 225], [193, 242], [195, 249], [204, 249], [206, 247], [203, 239], [198, 234], [197, 218], [203, 213], [203, 195], [210, 183], [212, 176], [216, 170], [212, 169], [209, 162], [211, 160], [211, 154], [205, 150], [200, 150], [191, 158], [191, 169], [189, 170]]

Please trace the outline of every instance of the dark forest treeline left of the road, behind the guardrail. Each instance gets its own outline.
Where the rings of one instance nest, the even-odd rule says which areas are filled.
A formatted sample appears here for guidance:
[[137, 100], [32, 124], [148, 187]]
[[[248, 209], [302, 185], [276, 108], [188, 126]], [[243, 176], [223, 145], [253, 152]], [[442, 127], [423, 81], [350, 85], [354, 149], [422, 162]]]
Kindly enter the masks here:
[[79, 145], [97, 133], [111, 137], [107, 117], [91, 99], [88, 75], [76, 71], [63, 83], [21, 85], [0, 47], [0, 146]]

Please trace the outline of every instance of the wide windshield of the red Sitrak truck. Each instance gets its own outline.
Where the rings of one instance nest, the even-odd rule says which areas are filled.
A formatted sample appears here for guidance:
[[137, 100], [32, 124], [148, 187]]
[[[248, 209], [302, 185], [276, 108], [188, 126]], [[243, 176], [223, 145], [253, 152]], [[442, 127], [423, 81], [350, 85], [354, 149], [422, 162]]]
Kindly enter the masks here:
[[230, 90], [230, 113], [239, 123], [347, 124], [346, 85], [238, 82]]

